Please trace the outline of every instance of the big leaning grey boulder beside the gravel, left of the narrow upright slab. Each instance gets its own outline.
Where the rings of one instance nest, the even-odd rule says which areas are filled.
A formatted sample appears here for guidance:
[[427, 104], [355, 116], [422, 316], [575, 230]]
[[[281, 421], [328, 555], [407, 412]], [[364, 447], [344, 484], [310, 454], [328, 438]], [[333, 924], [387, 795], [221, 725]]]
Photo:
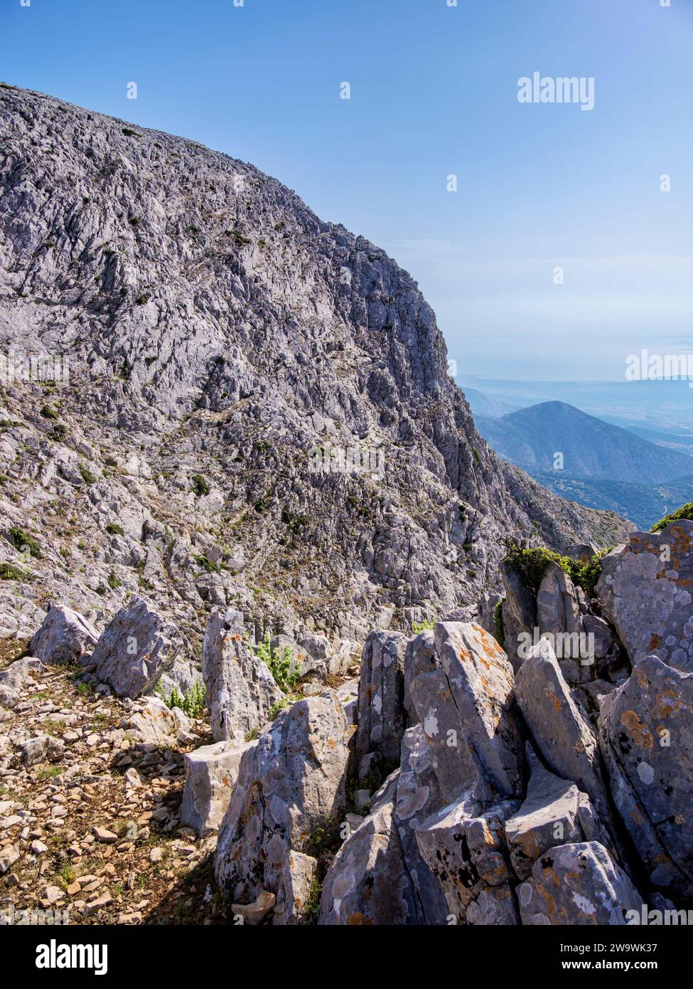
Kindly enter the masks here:
[[320, 834], [338, 825], [351, 732], [339, 697], [326, 691], [282, 711], [243, 755], [215, 866], [232, 902], [252, 902], [263, 890], [275, 893], [282, 923], [292, 922], [289, 855], [315, 857]]

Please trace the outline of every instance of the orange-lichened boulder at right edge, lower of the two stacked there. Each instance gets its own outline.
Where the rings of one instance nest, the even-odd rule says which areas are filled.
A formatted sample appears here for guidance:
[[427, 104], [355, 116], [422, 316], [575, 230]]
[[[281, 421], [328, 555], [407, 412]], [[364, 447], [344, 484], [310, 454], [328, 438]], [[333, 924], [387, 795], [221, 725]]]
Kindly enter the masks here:
[[599, 742], [651, 883], [693, 896], [693, 674], [646, 657], [602, 698]]

